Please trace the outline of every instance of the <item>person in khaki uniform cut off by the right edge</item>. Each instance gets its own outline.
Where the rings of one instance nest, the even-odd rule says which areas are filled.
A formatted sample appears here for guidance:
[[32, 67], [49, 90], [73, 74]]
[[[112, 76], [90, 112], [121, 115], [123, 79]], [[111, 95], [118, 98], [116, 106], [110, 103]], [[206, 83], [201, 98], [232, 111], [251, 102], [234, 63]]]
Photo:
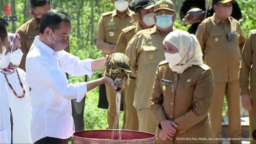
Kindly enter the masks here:
[[[239, 82], [242, 96], [242, 106], [249, 111], [250, 138], [256, 129], [256, 29], [251, 30], [242, 50], [242, 60], [239, 73]], [[249, 75], [250, 74], [250, 75]], [[251, 79], [249, 80], [249, 77]], [[251, 144], [256, 143], [255, 139]]]

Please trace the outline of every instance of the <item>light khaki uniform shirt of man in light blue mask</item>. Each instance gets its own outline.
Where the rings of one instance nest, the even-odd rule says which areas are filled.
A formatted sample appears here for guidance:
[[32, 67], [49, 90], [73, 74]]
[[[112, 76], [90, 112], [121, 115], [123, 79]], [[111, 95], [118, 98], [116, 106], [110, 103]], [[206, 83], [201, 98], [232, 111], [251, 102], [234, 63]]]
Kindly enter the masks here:
[[125, 50], [131, 62], [132, 71], [137, 76], [134, 98], [136, 109], [149, 107], [155, 71], [159, 62], [165, 60], [162, 43], [164, 38], [165, 36], [159, 33], [156, 26], [140, 30], [132, 37]]

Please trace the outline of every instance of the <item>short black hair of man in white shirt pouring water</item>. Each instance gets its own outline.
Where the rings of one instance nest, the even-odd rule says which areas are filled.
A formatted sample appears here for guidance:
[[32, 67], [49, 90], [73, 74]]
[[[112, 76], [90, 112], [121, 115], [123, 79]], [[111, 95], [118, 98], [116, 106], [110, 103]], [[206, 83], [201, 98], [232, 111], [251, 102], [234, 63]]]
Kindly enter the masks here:
[[52, 31], [59, 29], [59, 25], [62, 21], [71, 23], [70, 17], [65, 12], [61, 10], [50, 10], [43, 15], [39, 26], [39, 32], [43, 34], [46, 27], [50, 27]]

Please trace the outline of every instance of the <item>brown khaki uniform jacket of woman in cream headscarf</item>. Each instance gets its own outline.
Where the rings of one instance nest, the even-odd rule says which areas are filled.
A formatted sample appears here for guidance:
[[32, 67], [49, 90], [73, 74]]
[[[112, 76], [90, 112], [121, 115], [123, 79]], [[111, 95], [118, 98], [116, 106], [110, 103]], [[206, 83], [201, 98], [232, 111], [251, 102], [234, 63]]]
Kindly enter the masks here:
[[174, 143], [188, 142], [177, 137], [208, 139], [211, 137], [208, 109], [213, 90], [214, 80], [208, 65], [193, 65], [178, 74], [170, 69], [165, 60], [160, 62], [155, 74], [150, 111], [159, 127], [165, 119], [176, 122], [178, 127]]

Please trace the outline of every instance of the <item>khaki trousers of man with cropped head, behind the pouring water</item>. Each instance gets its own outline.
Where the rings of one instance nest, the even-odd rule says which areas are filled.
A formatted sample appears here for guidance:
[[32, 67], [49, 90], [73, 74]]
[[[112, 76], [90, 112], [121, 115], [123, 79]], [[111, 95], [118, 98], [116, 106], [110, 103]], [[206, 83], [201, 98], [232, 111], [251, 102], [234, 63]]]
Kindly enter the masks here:
[[[107, 119], [108, 119], [108, 124], [107, 124], [107, 129], [118, 129], [118, 125], [119, 123], [117, 123], [117, 125], [114, 125], [114, 122], [116, 121], [116, 92], [113, 91], [108, 85], [106, 85], [106, 94], [107, 94], [107, 99], [109, 102], [109, 107], [108, 107], [108, 113], [107, 113]], [[124, 115], [123, 115], [123, 128], [124, 129], [124, 125], [125, 125], [125, 115], [126, 115], [126, 104], [125, 104], [125, 96], [124, 96], [124, 92], [121, 92], [121, 102], [123, 101], [124, 103]], [[121, 117], [121, 116], [120, 116]]]

